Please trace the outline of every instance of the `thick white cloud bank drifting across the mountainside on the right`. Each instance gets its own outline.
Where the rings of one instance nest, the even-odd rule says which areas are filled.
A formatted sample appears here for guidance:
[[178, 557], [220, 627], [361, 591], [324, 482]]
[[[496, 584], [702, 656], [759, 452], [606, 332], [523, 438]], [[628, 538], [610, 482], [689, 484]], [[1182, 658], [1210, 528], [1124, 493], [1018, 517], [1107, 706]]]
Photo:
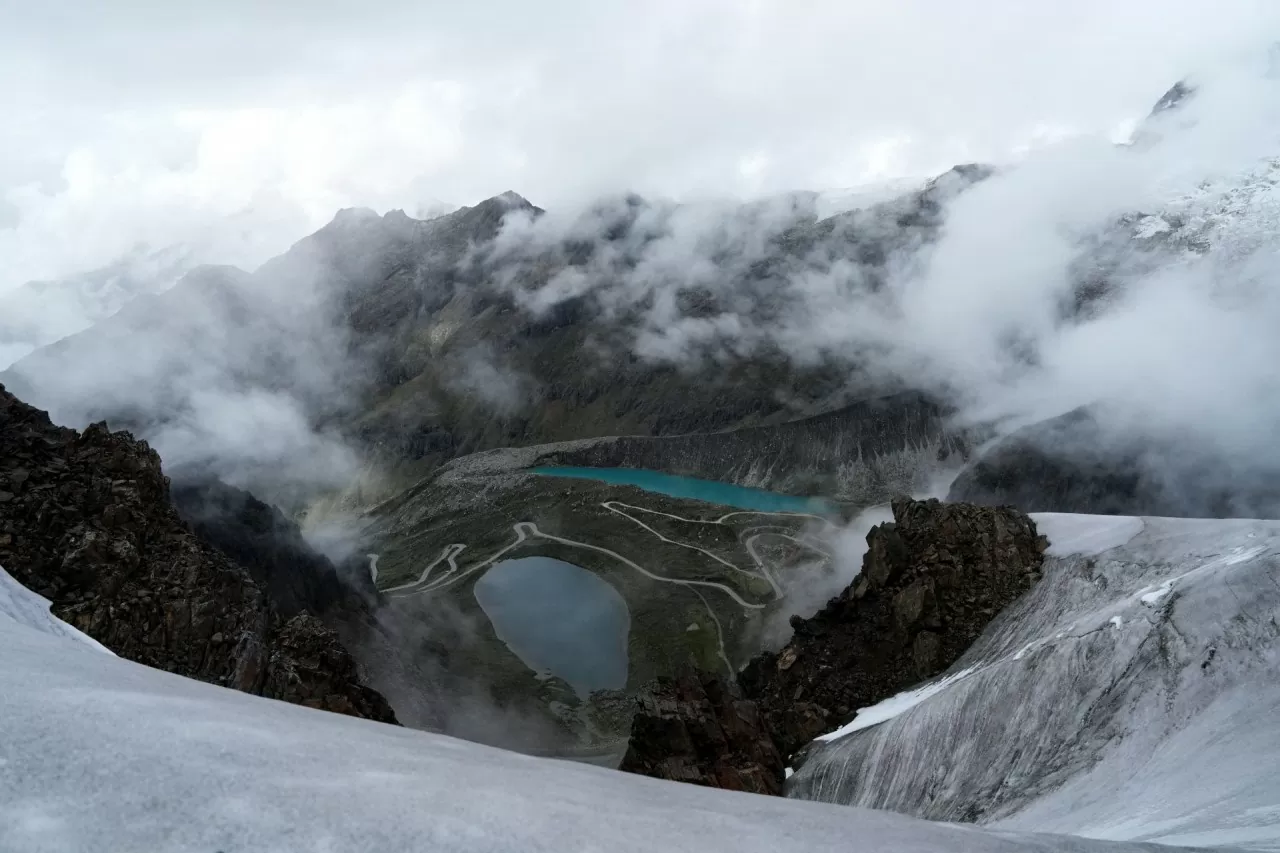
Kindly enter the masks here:
[[1199, 69], [1132, 145], [1071, 134], [916, 201], [818, 223], [804, 195], [626, 197], [513, 223], [498, 256], [557, 257], [511, 266], [517, 298], [630, 323], [645, 359], [835, 361], [1000, 429], [1101, 402], [1125, 441], [1280, 470], [1275, 56]]

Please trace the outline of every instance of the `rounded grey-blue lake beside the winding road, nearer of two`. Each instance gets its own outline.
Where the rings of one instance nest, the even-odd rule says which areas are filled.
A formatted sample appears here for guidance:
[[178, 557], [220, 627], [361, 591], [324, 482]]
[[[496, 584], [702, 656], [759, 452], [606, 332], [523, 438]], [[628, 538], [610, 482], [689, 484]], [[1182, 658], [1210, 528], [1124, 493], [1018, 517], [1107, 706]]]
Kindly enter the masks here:
[[631, 613], [607, 580], [563, 560], [521, 557], [494, 564], [475, 596], [529, 669], [564, 679], [581, 697], [626, 686]]

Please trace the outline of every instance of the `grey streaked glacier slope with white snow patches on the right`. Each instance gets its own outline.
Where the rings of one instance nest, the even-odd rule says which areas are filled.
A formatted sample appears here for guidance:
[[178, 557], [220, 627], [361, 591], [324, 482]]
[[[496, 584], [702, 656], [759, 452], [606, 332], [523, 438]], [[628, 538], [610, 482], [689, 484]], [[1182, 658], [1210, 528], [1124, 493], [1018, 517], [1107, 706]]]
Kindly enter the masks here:
[[1280, 521], [1034, 517], [1044, 579], [788, 795], [1280, 850]]

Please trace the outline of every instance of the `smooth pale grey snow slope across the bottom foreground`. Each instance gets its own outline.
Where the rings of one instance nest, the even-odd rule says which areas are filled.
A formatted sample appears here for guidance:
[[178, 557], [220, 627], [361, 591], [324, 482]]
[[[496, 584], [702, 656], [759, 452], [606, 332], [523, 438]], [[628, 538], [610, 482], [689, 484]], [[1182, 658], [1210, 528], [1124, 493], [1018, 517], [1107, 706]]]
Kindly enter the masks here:
[[[0, 578], [4, 601], [24, 601]], [[28, 602], [29, 603], [29, 602]], [[1139, 850], [678, 785], [234, 693], [0, 608], [0, 850]]]

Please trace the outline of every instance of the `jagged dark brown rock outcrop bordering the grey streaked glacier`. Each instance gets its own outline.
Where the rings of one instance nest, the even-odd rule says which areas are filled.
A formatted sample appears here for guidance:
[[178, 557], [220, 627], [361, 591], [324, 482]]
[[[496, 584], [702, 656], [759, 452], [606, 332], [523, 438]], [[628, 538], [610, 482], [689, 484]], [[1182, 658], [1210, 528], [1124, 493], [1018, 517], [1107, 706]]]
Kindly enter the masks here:
[[942, 672], [1039, 576], [1047, 542], [1011, 507], [901, 498], [893, 519], [859, 579], [741, 674], [783, 756]]

